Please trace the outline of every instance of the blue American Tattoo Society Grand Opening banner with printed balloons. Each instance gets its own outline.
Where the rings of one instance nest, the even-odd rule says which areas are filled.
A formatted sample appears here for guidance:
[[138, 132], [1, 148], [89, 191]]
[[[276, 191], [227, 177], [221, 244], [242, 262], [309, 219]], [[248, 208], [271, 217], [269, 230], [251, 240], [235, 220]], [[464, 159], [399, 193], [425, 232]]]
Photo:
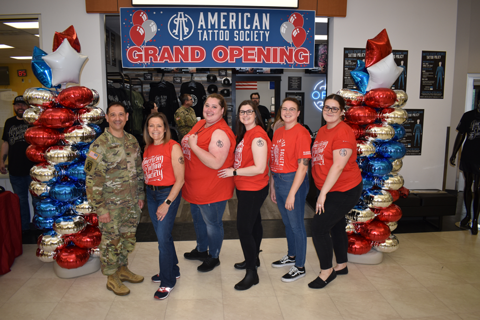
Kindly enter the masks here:
[[120, 8], [124, 68], [314, 67], [315, 11]]

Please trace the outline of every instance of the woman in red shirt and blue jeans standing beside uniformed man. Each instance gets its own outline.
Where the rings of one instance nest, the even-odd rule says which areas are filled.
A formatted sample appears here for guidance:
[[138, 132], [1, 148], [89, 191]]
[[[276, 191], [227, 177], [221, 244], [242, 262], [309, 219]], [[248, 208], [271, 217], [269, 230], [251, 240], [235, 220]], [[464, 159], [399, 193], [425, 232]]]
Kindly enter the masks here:
[[146, 143], [142, 168], [147, 184], [147, 205], [159, 241], [160, 272], [152, 277], [161, 282], [155, 298], [165, 299], [180, 277], [172, 229], [182, 198], [185, 165], [182, 148], [171, 140], [168, 121], [163, 113], [147, 117], [143, 129]]

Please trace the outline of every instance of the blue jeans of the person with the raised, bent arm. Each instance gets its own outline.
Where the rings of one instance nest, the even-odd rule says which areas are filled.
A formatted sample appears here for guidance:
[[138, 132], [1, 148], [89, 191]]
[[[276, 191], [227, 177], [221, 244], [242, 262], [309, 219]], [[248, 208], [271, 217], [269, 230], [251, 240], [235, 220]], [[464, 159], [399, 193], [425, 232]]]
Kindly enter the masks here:
[[193, 226], [196, 233], [196, 250], [209, 251], [213, 258], [218, 258], [224, 241], [224, 215], [226, 200], [207, 203], [190, 204]]

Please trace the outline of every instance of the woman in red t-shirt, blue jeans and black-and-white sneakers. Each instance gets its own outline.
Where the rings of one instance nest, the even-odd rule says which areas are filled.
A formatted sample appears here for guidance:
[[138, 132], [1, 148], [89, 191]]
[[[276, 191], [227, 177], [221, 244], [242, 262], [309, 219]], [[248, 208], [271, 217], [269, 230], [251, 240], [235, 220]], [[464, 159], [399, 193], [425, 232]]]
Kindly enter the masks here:
[[285, 98], [280, 107], [285, 127], [273, 134], [270, 148], [270, 197], [277, 203], [282, 214], [287, 234], [288, 253], [272, 267], [291, 266], [282, 277], [284, 282], [292, 282], [305, 277], [305, 256], [307, 253], [307, 233], [303, 218], [305, 200], [309, 189], [308, 161], [312, 138], [306, 128], [297, 122], [300, 116], [300, 103], [295, 98]]

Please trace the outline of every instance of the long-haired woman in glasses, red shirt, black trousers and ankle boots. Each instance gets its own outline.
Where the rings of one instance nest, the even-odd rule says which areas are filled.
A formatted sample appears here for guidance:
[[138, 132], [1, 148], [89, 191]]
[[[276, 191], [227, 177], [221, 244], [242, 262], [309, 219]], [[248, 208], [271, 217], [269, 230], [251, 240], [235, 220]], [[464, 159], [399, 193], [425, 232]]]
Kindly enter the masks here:
[[234, 177], [237, 205], [237, 230], [245, 261], [235, 263], [247, 269], [237, 290], [246, 290], [258, 283], [256, 267], [263, 235], [260, 208], [268, 195], [268, 151], [272, 142], [263, 129], [260, 111], [252, 100], [240, 103], [237, 113], [237, 139], [233, 167], [219, 171], [222, 178]]

